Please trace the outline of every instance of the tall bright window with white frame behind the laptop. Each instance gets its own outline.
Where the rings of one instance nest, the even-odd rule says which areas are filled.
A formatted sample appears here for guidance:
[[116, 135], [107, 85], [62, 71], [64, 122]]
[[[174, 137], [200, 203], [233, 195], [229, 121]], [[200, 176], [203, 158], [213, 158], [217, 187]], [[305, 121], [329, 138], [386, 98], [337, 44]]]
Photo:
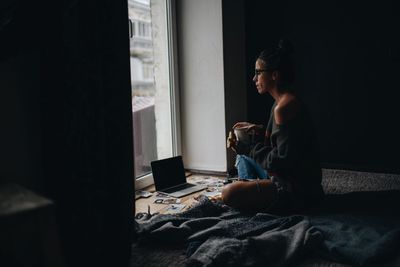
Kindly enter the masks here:
[[128, 0], [136, 188], [153, 182], [151, 161], [180, 152], [173, 4]]

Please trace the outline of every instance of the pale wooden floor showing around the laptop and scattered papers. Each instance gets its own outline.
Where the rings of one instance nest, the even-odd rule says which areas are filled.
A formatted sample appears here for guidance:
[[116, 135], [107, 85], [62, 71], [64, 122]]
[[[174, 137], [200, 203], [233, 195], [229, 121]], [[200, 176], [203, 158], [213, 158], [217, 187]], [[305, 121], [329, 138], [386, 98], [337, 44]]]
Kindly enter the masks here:
[[[193, 182], [193, 180], [195, 180], [196, 178], [198, 179], [199, 177], [210, 177], [210, 178], [219, 178], [221, 180], [223, 180], [225, 177], [222, 176], [215, 176], [215, 175], [203, 175], [203, 174], [192, 174], [190, 176], [187, 177], [187, 181]], [[155, 199], [156, 199], [156, 195], [157, 192], [155, 192], [155, 188], [154, 185], [151, 185], [149, 187], [146, 187], [142, 190], [145, 191], [149, 191], [151, 193], [153, 193], [152, 196], [147, 197], [147, 198], [139, 198], [135, 201], [135, 206], [136, 206], [136, 214], [137, 213], [141, 213], [141, 212], [150, 212], [151, 214], [159, 212], [159, 213], [166, 213], [166, 209], [169, 206], [168, 204], [158, 204], [158, 203], [154, 203]], [[184, 204], [185, 208], [182, 210], [187, 210], [189, 207], [191, 207], [191, 205], [193, 205], [196, 202], [196, 197], [200, 196], [201, 194], [203, 194], [206, 190], [202, 190], [199, 192], [195, 192], [193, 194], [184, 196], [182, 198], [180, 198], [180, 204]]]

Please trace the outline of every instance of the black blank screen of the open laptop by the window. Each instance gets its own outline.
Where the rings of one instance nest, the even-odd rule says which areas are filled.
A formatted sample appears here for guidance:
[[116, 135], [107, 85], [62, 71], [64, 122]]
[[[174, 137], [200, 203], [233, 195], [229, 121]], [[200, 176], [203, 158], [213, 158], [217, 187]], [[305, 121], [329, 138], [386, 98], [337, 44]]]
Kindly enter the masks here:
[[186, 183], [182, 156], [152, 161], [151, 171], [156, 191]]

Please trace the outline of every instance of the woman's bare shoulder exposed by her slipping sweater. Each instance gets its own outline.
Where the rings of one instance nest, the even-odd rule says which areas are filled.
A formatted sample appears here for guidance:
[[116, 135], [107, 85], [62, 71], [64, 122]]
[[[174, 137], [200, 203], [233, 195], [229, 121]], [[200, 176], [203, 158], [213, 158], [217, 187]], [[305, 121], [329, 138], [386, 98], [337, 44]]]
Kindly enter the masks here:
[[302, 109], [300, 99], [290, 93], [284, 94], [274, 108], [275, 122], [278, 125], [286, 124], [292, 120]]

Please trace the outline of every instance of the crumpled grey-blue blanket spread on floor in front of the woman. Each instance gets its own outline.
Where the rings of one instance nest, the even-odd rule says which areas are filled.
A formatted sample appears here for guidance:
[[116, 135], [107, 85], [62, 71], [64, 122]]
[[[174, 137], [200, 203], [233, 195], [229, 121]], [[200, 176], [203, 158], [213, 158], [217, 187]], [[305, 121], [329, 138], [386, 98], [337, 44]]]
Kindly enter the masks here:
[[206, 197], [185, 212], [136, 226], [139, 241], [186, 244], [188, 266], [286, 266], [311, 253], [363, 266], [393, 256], [400, 243], [398, 220], [249, 214]]

